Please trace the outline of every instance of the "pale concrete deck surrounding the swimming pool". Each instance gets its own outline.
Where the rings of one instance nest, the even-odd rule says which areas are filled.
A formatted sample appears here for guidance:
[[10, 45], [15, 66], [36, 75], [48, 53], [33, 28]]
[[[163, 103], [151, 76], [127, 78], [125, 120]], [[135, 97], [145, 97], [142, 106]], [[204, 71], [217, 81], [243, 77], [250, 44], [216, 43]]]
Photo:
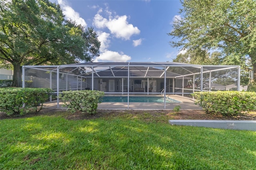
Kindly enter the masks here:
[[[106, 95], [115, 96], [115, 95]], [[120, 95], [119, 95], [120, 96]], [[140, 97], [162, 97], [162, 95], [130, 95], [130, 96], [140, 96]], [[179, 95], [169, 95], [171, 99], [180, 101], [180, 103], [166, 103], [165, 109], [174, 109], [176, 106], [180, 106], [180, 109], [190, 109], [199, 110], [200, 106], [195, 105], [193, 99], [187, 97], [182, 97]], [[57, 109], [57, 101], [44, 103], [45, 109]], [[64, 109], [62, 107], [62, 102], [59, 104], [59, 109]], [[98, 109], [148, 109], [148, 110], [162, 110], [164, 109], [164, 103], [142, 103], [142, 102], [129, 102], [129, 108], [127, 102], [104, 102], [98, 104]]]

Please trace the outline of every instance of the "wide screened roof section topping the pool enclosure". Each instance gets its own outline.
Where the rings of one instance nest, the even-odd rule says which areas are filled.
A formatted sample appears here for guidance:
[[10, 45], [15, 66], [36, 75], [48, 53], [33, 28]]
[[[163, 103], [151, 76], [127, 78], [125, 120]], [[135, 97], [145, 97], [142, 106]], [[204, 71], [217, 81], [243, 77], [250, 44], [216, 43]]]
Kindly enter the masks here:
[[96, 77], [182, 77], [225, 69], [237, 69], [238, 65], [195, 65], [176, 62], [90, 62], [67, 65], [33, 65], [23, 66], [26, 69], [39, 69], [88, 77], [94, 72]]

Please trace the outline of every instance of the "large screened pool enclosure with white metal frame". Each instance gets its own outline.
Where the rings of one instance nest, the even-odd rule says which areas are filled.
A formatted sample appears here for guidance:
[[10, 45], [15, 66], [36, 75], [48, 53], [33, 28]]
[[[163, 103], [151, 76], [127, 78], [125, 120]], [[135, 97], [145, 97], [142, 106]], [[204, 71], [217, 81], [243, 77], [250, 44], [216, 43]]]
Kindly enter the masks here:
[[[240, 66], [174, 62], [101, 62], [22, 67], [23, 87], [45, 87], [58, 96], [68, 90], [98, 90], [110, 96], [170, 95], [195, 91], [239, 90]], [[50, 100], [57, 100], [52, 97]]]

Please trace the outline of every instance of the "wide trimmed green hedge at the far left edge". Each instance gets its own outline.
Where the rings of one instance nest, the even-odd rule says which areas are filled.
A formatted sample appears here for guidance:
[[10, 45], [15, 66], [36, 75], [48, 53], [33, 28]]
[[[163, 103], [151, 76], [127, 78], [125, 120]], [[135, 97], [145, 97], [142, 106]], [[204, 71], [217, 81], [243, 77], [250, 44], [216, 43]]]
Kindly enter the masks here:
[[46, 88], [1, 88], [0, 111], [7, 115], [38, 113], [52, 92]]

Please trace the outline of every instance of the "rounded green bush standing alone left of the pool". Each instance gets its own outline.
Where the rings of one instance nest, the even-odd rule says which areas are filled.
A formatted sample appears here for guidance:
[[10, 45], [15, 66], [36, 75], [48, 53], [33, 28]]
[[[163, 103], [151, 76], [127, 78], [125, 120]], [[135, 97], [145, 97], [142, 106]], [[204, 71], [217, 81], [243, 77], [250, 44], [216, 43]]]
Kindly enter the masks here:
[[94, 90], [63, 91], [59, 98], [71, 112], [82, 111], [95, 114], [104, 92]]

